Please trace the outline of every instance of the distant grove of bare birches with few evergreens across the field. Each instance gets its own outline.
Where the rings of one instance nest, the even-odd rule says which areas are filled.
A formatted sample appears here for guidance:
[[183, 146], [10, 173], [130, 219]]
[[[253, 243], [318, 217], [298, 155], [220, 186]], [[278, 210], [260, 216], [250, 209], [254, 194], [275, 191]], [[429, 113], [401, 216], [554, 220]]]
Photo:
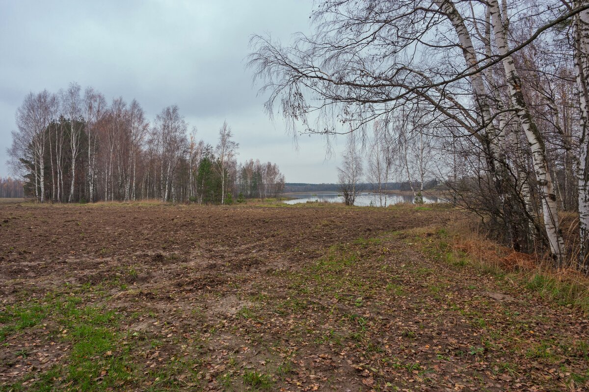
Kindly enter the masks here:
[[[39, 202], [135, 201], [227, 204], [247, 195], [277, 195], [284, 176], [275, 164], [237, 162], [239, 144], [227, 123], [218, 142], [196, 139], [177, 106], [153, 122], [133, 99], [112, 99], [71, 84], [28, 94], [16, 111], [8, 165]], [[243, 168], [254, 165], [255, 178]], [[253, 182], [252, 182], [253, 181]], [[229, 200], [228, 200], [229, 198]]]

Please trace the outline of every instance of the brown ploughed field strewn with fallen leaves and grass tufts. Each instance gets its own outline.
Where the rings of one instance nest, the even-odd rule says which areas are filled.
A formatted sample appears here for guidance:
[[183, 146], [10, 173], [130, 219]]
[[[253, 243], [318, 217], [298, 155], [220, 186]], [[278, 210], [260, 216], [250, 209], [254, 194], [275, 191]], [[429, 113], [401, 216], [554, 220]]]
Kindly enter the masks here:
[[424, 253], [448, 214], [0, 205], [0, 391], [585, 390], [586, 318]]

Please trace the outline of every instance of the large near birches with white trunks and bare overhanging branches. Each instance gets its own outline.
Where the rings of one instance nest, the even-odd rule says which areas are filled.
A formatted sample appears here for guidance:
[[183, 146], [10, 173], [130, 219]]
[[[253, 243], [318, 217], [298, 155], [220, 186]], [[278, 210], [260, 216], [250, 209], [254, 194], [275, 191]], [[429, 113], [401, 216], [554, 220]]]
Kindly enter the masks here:
[[435, 138], [456, 202], [515, 249], [589, 269], [587, 2], [326, 0], [312, 21], [287, 46], [252, 39], [270, 114], [327, 139], [376, 121], [385, 144]]

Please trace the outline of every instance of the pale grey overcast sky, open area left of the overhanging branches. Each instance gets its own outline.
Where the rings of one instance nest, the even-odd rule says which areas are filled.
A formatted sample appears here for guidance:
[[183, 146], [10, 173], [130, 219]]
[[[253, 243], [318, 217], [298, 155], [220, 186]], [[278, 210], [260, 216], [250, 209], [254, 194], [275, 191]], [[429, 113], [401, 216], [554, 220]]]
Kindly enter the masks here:
[[[270, 121], [244, 68], [252, 34], [283, 43], [310, 30], [312, 1], [25, 1], [0, 0], [0, 176], [15, 111], [28, 92], [91, 85], [109, 101], [122, 96], [151, 120], [180, 107], [198, 137], [215, 144], [226, 120], [239, 160], [279, 165], [287, 182], [336, 182], [323, 140], [299, 149], [280, 119]], [[340, 142], [340, 145], [343, 144]], [[337, 148], [336, 148], [337, 151]]]

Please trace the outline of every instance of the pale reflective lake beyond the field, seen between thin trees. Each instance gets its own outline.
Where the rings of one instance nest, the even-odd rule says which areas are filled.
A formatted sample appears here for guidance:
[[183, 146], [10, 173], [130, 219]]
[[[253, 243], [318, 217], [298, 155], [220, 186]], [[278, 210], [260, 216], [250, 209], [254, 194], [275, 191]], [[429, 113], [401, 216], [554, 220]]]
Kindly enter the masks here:
[[[308, 193], [293, 193], [285, 195], [286, 197], [292, 197], [292, 200], [284, 201], [286, 204], [298, 204], [298, 203], [306, 203], [307, 201], [324, 201], [324, 202], [342, 202], [343, 203], [343, 196], [341, 196], [338, 192], [308, 192]], [[370, 193], [370, 192], [362, 192], [356, 197], [356, 202], [354, 205], [359, 206], [368, 206], [370, 205], [370, 201], [373, 202], [375, 206], [379, 206], [378, 195]], [[405, 194], [388, 194], [386, 195], [386, 205], [393, 205], [398, 203], [411, 203], [413, 202], [412, 195], [405, 195]], [[423, 202], [426, 203], [436, 203], [438, 202], [437, 197], [433, 196], [423, 196]]]

